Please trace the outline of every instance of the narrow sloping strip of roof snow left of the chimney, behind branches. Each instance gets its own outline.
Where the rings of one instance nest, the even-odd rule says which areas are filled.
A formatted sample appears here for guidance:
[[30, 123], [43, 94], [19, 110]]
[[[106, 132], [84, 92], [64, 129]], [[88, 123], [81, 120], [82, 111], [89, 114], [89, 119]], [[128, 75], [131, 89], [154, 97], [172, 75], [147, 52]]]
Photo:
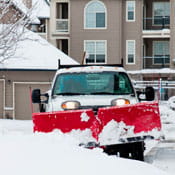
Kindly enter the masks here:
[[33, 13], [33, 9], [28, 9], [22, 0], [12, 0], [12, 3], [15, 7], [17, 7], [22, 13], [27, 15], [32, 23], [34, 24], [40, 24], [39, 19], [36, 17], [36, 15]]

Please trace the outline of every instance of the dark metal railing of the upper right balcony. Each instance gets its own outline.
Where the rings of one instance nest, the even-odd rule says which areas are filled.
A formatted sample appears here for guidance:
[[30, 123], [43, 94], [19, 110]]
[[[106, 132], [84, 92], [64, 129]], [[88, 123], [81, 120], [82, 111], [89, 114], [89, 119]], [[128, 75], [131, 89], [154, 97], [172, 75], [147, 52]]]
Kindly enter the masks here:
[[143, 19], [143, 30], [162, 30], [170, 28], [169, 16], [155, 16]]

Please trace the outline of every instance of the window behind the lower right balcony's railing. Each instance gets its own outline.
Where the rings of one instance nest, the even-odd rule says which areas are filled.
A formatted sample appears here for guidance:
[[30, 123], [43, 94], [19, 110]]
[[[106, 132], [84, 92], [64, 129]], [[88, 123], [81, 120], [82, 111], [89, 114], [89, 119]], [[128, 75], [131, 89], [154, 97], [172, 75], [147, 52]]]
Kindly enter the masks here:
[[153, 41], [154, 64], [169, 64], [169, 41]]

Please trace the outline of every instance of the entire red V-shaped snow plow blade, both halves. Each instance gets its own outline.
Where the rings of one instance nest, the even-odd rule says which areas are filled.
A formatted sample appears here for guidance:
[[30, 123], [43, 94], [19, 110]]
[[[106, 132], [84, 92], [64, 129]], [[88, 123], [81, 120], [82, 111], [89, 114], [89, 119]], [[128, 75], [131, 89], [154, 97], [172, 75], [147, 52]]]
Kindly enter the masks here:
[[99, 108], [97, 115], [94, 115], [92, 109], [33, 113], [32, 119], [34, 132], [51, 132], [59, 129], [63, 133], [68, 133], [77, 129], [90, 129], [96, 140], [111, 120], [133, 126], [135, 134], [161, 129], [158, 102]]

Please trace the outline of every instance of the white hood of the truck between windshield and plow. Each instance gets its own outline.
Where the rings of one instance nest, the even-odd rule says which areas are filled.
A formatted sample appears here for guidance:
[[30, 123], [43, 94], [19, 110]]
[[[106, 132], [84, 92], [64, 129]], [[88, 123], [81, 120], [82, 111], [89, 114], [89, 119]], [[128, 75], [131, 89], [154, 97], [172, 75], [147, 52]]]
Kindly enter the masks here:
[[125, 98], [130, 101], [131, 104], [137, 103], [136, 97], [131, 95], [72, 95], [72, 96], [56, 96], [49, 100], [46, 106], [46, 111], [61, 111], [61, 104], [66, 101], [78, 101], [81, 106], [110, 106], [111, 101], [117, 98]]

